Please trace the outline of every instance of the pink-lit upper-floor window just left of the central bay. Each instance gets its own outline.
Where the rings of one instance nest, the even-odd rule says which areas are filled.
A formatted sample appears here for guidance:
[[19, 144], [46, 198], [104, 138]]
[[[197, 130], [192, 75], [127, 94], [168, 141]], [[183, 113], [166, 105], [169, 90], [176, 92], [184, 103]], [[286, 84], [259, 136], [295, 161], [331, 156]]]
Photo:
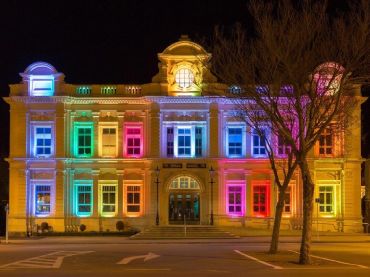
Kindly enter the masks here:
[[140, 157], [143, 153], [143, 132], [141, 126], [125, 126], [125, 156]]

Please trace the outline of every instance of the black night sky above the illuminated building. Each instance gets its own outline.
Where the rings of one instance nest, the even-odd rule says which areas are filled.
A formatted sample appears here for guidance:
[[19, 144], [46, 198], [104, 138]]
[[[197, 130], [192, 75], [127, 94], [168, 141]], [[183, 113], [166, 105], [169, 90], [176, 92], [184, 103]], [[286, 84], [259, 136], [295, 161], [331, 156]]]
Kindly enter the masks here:
[[[157, 53], [181, 34], [197, 41], [209, 37], [215, 25], [249, 26], [247, 2], [2, 0], [0, 96], [9, 95], [8, 84], [18, 83], [18, 73], [35, 61], [51, 63], [67, 83], [149, 83], [157, 73]], [[365, 106], [364, 116], [370, 118], [369, 101]], [[9, 154], [3, 100], [0, 112], [1, 160]], [[364, 156], [370, 152], [367, 141]], [[1, 200], [6, 194], [4, 162], [0, 169]]]

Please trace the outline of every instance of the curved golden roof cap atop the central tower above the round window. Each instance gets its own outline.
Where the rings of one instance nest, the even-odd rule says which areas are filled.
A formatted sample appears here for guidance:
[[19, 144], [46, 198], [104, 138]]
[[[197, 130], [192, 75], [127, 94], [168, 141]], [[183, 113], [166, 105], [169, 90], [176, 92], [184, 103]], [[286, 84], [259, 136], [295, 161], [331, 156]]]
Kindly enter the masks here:
[[192, 42], [187, 35], [181, 35], [179, 41], [168, 46], [161, 55], [209, 55], [199, 44]]

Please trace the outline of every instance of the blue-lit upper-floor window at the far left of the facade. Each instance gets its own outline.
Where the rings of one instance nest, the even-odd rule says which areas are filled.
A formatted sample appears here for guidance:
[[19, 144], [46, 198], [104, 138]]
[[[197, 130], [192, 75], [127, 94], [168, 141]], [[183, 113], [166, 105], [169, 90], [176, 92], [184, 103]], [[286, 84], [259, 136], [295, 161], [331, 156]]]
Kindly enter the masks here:
[[36, 157], [49, 157], [52, 154], [52, 129], [50, 126], [36, 126], [34, 133], [34, 153]]

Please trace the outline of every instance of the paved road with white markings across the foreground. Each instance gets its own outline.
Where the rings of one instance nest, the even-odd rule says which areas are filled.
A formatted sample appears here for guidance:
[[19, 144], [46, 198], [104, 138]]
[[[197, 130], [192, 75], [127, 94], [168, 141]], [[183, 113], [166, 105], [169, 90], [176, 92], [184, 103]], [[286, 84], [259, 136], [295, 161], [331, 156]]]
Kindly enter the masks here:
[[313, 265], [296, 242], [266, 255], [253, 241], [38, 240], [0, 244], [0, 276], [370, 276], [370, 242], [315, 243]]

